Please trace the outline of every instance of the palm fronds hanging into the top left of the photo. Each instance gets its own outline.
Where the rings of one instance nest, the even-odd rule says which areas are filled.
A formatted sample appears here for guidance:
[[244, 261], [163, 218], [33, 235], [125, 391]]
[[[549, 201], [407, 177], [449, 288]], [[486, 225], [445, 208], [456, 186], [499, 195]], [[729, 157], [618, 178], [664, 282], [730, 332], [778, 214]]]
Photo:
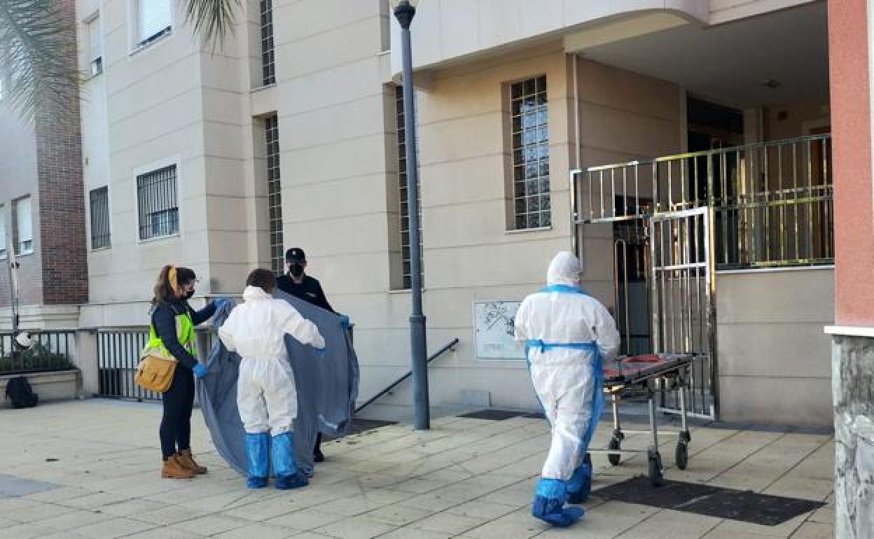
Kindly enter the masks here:
[[[240, 0], [181, 0], [185, 23], [220, 47]], [[78, 119], [84, 79], [76, 60], [74, 0], [0, 0], [0, 96], [26, 121]]]

